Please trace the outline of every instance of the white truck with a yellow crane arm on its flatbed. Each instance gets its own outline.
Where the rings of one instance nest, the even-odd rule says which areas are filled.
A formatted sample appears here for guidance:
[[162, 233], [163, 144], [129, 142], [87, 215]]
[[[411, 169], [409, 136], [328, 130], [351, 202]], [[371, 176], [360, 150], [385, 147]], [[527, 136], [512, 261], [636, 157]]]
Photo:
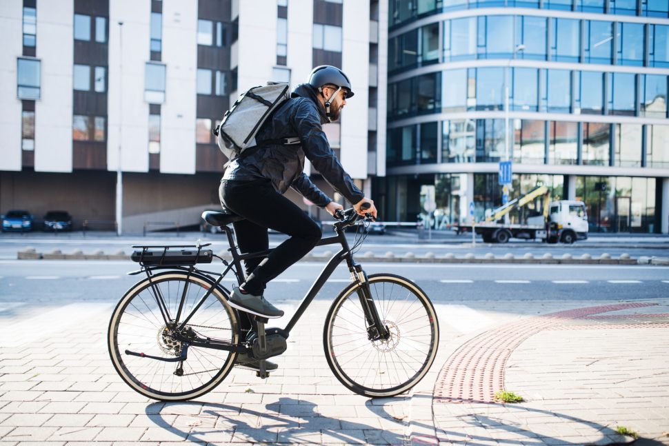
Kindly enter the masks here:
[[[527, 223], [506, 223], [505, 216], [535, 199], [543, 196], [543, 214], [530, 216]], [[550, 201], [548, 188], [539, 186], [532, 192], [509, 201], [501, 207], [486, 211], [486, 221], [475, 225], [455, 225], [455, 231], [469, 232], [474, 230], [481, 234], [486, 243], [506, 243], [510, 238], [541, 239], [547, 243], [574, 243], [588, 238], [588, 214], [582, 201], [559, 200]]]

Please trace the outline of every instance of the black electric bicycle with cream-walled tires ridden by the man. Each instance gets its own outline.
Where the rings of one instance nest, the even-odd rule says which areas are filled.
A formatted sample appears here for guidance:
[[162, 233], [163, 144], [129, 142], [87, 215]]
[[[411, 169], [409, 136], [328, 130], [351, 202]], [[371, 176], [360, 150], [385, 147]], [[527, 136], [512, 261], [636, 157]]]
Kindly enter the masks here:
[[[234, 366], [237, 354], [259, 360], [257, 376], [267, 378], [266, 360], [286, 351], [286, 339], [306, 308], [342, 261], [351, 283], [332, 302], [323, 328], [323, 349], [341, 384], [370, 398], [408, 391], [428, 372], [439, 345], [435, 308], [421, 288], [395, 274], [370, 274], [353, 254], [366, 233], [349, 247], [344, 229], [360, 224], [353, 209], [338, 212], [335, 236], [317, 245], [341, 245], [315, 279], [284, 328], [266, 328], [268, 319], [244, 314], [255, 324], [243, 336], [239, 312], [227, 303], [221, 285], [232, 272], [245, 280], [241, 262], [272, 250], [240, 254], [229, 226], [241, 217], [203, 212], [203, 219], [226, 234], [232, 261], [201, 245], [137, 245], [132, 260], [146, 278], [132, 285], [112, 313], [108, 348], [114, 368], [132, 389], [159, 401], [186, 401], [214, 389]], [[368, 223], [371, 216], [362, 219]], [[219, 259], [223, 272], [196, 267]]]

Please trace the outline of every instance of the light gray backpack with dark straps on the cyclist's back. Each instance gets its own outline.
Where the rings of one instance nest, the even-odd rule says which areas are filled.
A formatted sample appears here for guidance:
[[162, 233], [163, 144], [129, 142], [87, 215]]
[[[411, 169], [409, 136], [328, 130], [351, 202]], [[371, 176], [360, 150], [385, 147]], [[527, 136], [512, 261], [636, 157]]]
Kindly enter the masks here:
[[268, 83], [241, 94], [223, 115], [213, 134], [221, 152], [232, 160], [256, 145], [255, 135], [274, 110], [290, 97], [288, 83]]

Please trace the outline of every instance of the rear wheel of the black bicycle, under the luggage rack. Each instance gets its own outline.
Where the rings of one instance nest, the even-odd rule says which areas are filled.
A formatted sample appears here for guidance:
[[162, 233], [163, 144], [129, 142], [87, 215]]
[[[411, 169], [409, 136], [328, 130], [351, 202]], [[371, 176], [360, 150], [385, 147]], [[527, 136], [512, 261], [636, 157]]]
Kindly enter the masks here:
[[[158, 287], [161, 291], [170, 315], [174, 317], [183, 293], [183, 284], [187, 280], [188, 292], [182, 314], [188, 314], [188, 310], [199, 301], [213, 282], [197, 273], [192, 273], [189, 277], [186, 272], [168, 271], [155, 274], [150, 280], [144, 278], [130, 287], [110, 318], [107, 339], [114, 369], [126, 384], [148, 398], [159, 401], [186, 401], [206, 394], [226, 378], [237, 358], [235, 352], [191, 346], [188, 349], [188, 359], [183, 361], [185, 374], [177, 376], [170, 371], [175, 370], [178, 363], [126, 354], [126, 349], [132, 349], [154, 356], [178, 356], [176, 350], [172, 352], [172, 348], [180, 348], [181, 344], [162, 336], [166, 325], [153, 297], [152, 287]], [[234, 345], [239, 341], [237, 321], [237, 312], [228, 305], [225, 291], [221, 287], [214, 287], [187, 327], [203, 337], [229, 341]], [[168, 378], [169, 383], [166, 382]], [[154, 381], [149, 381], [150, 379]]]

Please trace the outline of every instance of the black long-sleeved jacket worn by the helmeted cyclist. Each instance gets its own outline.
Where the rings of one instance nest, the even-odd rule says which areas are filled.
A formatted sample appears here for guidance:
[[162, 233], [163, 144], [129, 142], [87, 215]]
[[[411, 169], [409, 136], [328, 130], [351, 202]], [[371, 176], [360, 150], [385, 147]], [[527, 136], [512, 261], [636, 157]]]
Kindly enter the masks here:
[[[272, 117], [263, 123], [256, 135], [257, 148], [249, 148], [238, 159], [228, 163], [223, 180], [269, 179], [277, 192], [292, 187], [312, 203], [324, 207], [332, 201], [304, 174], [304, 159], [350, 203], [357, 203], [364, 194], [343, 170], [330, 148], [322, 125], [328, 122], [325, 108], [311, 85], [300, 84], [291, 98], [281, 104]], [[300, 143], [281, 145], [288, 137], [299, 137]], [[272, 142], [270, 142], [272, 141]]]

